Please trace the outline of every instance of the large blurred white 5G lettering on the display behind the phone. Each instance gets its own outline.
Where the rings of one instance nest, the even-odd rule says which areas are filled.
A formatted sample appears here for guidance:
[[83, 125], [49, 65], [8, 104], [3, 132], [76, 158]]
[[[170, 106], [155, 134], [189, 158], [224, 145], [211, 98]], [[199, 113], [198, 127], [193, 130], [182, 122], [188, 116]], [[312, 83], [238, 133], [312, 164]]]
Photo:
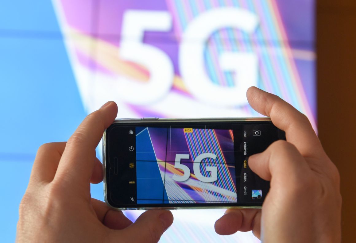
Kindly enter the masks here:
[[[205, 72], [204, 49], [213, 32], [232, 27], [246, 33], [255, 31], [258, 18], [250, 11], [222, 7], [198, 15], [185, 28], [179, 45], [178, 64], [183, 82], [197, 99], [221, 106], [247, 104], [246, 90], [257, 85], [257, 56], [253, 52], [223, 52], [219, 65], [234, 72], [234, 86], [214, 84]], [[129, 10], [124, 13], [120, 58], [143, 65], [150, 72], [146, 83], [120, 77], [120, 97], [142, 105], [162, 99], [172, 88], [172, 60], [157, 47], [143, 43], [145, 31], [170, 31], [172, 16], [167, 11]]]

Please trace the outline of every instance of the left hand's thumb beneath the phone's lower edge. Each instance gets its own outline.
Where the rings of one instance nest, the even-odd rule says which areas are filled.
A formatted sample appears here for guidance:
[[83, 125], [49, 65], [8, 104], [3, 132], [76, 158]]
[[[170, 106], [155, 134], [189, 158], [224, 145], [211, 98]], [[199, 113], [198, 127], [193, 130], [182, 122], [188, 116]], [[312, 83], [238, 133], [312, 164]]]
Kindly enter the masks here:
[[173, 223], [173, 215], [167, 210], [148, 210], [122, 233], [132, 242], [158, 242], [164, 231]]

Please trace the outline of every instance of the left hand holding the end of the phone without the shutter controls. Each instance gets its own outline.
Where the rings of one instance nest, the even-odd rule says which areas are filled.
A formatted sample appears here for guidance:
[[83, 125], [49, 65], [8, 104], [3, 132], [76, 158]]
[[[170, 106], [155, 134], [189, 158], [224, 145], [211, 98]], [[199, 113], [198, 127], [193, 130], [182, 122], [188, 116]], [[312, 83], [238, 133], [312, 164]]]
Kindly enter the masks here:
[[108, 102], [87, 116], [67, 143], [38, 149], [20, 204], [17, 242], [157, 242], [172, 224], [166, 210], [147, 211], [132, 223], [90, 197], [90, 183], [103, 180], [95, 148], [116, 114], [115, 102]]

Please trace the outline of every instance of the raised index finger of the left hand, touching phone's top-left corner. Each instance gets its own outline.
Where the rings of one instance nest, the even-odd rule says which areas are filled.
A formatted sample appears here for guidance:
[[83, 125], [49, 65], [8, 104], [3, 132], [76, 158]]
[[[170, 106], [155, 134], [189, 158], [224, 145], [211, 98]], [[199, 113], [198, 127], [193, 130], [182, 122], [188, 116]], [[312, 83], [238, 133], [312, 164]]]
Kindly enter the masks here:
[[117, 105], [109, 101], [84, 119], [67, 142], [54, 180], [79, 186], [81, 190], [83, 186], [90, 186], [96, 161], [95, 148], [116, 115]]

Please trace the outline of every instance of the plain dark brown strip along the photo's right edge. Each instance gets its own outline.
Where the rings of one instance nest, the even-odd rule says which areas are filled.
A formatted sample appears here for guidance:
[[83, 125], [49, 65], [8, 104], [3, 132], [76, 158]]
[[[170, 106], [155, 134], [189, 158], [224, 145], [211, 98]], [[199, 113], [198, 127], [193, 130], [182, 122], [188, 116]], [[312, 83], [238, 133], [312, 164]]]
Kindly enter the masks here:
[[342, 241], [356, 230], [356, 1], [318, 1], [319, 138], [341, 175]]

